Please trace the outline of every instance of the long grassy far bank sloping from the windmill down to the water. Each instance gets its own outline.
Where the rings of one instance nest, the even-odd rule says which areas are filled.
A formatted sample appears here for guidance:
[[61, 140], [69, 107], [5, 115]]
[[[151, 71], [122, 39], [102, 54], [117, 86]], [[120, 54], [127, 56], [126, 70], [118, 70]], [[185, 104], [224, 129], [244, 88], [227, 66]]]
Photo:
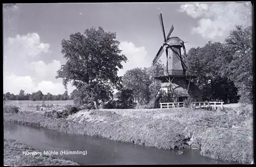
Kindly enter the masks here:
[[253, 158], [252, 108], [224, 111], [174, 109], [80, 110], [68, 118], [44, 112], [6, 113], [4, 120], [68, 133], [142, 144], [160, 149], [201, 145], [201, 155], [250, 163]]

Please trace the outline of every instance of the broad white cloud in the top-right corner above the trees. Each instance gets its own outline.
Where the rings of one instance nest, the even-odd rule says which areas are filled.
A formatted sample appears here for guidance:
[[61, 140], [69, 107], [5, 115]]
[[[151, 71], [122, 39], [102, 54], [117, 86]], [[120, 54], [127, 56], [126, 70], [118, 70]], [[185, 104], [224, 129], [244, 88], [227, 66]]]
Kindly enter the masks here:
[[252, 8], [246, 3], [191, 3], [181, 5], [179, 11], [201, 18], [192, 32], [209, 39], [227, 36], [234, 25], [252, 24]]

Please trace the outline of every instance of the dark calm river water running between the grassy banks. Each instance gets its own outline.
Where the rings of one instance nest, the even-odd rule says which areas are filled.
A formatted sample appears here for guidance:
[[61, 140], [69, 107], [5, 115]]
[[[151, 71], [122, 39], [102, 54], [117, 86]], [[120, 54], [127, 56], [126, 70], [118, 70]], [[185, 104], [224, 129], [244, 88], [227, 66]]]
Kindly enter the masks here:
[[[81, 165], [228, 163], [200, 156], [198, 150], [184, 149], [184, 153], [178, 155], [178, 151], [125, 144], [104, 138], [62, 133], [9, 122], [4, 122], [4, 137], [31, 145], [40, 151], [57, 151], [59, 154], [60, 151], [66, 150], [87, 150], [87, 155], [64, 155], [63, 157]], [[62, 158], [60, 155], [56, 156]]]

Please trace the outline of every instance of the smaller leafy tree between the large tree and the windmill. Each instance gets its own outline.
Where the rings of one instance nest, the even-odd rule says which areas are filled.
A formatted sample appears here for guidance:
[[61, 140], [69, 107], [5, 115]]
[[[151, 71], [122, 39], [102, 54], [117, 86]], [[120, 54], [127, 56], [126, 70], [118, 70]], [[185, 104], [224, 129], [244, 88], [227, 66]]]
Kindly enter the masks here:
[[147, 69], [134, 68], [127, 70], [123, 75], [122, 85], [125, 89], [133, 90], [135, 101], [141, 105], [145, 105], [150, 101], [151, 81], [147, 75]]

